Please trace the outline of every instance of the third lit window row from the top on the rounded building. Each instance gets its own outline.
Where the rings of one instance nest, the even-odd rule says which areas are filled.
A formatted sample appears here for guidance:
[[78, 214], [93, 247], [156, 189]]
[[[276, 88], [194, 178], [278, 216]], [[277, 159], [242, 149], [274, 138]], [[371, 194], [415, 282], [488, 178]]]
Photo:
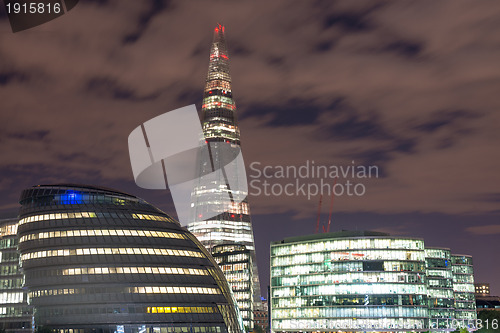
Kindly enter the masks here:
[[64, 257], [64, 256], [85, 256], [85, 255], [103, 255], [103, 254], [117, 254], [117, 255], [157, 255], [157, 256], [183, 256], [183, 257], [196, 257], [203, 258], [200, 252], [189, 250], [172, 250], [172, 249], [154, 249], [154, 248], [85, 248], [85, 249], [61, 249], [61, 250], [46, 250], [24, 253], [21, 255], [21, 260], [30, 260], [47, 257]]

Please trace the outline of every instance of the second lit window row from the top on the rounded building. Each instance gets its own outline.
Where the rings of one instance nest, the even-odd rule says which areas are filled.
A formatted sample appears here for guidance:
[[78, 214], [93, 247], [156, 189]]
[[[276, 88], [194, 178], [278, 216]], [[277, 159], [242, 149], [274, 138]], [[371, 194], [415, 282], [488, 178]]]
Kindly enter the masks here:
[[183, 234], [153, 231], [153, 230], [62, 230], [40, 232], [38, 234], [30, 234], [22, 236], [19, 242], [47, 239], [55, 237], [85, 237], [85, 236], [136, 236], [136, 237], [162, 237], [162, 238], [177, 238], [185, 239]]

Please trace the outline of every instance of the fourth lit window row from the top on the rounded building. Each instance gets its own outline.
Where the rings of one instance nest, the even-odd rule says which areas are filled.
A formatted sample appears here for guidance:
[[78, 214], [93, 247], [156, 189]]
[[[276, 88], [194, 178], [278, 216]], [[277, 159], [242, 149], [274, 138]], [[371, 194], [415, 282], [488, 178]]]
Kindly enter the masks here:
[[82, 274], [185, 274], [185, 275], [208, 275], [208, 271], [198, 268], [182, 267], [82, 267], [61, 270], [61, 275]]

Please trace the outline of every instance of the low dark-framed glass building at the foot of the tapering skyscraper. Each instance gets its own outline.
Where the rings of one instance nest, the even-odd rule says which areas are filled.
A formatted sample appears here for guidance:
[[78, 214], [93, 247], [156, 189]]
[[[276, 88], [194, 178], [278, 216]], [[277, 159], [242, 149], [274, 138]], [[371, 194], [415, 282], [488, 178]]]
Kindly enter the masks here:
[[245, 245], [222, 244], [212, 249], [212, 256], [233, 291], [243, 325], [248, 328], [253, 327], [253, 262], [250, 250]]

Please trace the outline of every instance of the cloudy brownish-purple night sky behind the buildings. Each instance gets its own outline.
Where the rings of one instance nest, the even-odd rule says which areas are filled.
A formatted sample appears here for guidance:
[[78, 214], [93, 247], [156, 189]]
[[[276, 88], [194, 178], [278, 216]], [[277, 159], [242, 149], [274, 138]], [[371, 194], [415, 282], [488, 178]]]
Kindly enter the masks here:
[[[471, 254], [476, 282], [500, 294], [497, 1], [82, 0], [15, 34], [2, 13], [0, 217], [16, 214], [22, 189], [68, 182], [175, 216], [168, 191], [135, 185], [127, 138], [200, 106], [218, 22], [249, 176], [253, 162], [375, 165], [378, 178], [357, 180], [363, 196], [335, 198], [331, 230]], [[266, 288], [269, 242], [314, 233], [319, 195], [249, 201]], [[329, 205], [324, 197], [323, 224]]]

